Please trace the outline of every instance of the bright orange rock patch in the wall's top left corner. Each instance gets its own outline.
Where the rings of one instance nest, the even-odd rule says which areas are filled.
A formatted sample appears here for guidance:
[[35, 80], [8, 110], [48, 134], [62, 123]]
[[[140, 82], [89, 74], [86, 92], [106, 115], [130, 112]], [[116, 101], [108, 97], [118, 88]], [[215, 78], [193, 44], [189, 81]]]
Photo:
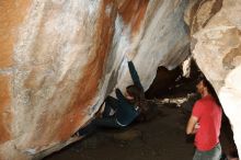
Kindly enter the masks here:
[[28, 3], [28, 0], [21, 2], [14, 0], [0, 1], [0, 68], [10, 67], [13, 64], [15, 32], [26, 14]]

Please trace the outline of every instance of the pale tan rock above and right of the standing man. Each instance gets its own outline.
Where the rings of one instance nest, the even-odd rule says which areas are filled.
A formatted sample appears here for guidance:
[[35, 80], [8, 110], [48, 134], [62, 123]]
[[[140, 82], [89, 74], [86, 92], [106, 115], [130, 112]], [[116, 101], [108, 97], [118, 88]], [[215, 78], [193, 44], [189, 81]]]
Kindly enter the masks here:
[[241, 155], [241, 1], [196, 0], [185, 20], [191, 27], [191, 49], [215, 87], [234, 133]]

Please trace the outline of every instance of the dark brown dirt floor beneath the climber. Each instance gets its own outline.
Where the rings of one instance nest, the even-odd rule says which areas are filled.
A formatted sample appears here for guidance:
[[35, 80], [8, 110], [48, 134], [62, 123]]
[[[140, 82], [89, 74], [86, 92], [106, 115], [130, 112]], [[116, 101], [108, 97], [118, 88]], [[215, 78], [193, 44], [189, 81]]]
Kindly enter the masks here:
[[175, 105], [159, 105], [159, 115], [125, 130], [100, 130], [44, 160], [191, 160], [186, 116]]

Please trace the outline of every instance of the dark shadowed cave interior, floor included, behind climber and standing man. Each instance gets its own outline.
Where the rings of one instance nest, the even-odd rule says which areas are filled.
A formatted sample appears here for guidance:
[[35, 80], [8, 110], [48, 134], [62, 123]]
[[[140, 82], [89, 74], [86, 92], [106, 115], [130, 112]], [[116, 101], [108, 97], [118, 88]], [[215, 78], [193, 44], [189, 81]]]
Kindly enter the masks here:
[[[191, 160], [194, 136], [185, 135], [192, 106], [197, 100], [196, 82], [200, 75], [194, 60], [190, 77], [182, 77], [182, 66], [173, 70], [159, 67], [146, 98], [158, 104], [158, 114], [126, 129], [102, 128], [44, 160]], [[236, 145], [223, 114], [220, 142], [223, 157]]]

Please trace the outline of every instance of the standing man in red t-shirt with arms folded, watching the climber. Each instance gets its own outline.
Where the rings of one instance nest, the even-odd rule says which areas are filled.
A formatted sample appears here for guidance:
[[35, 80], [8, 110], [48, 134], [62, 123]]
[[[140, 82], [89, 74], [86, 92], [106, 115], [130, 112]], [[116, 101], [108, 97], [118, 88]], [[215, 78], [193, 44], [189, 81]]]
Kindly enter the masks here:
[[219, 135], [222, 111], [215, 99], [213, 87], [206, 79], [202, 79], [196, 85], [202, 99], [193, 107], [192, 115], [186, 126], [186, 134], [195, 134], [196, 151], [193, 160], [219, 160], [221, 146]]

